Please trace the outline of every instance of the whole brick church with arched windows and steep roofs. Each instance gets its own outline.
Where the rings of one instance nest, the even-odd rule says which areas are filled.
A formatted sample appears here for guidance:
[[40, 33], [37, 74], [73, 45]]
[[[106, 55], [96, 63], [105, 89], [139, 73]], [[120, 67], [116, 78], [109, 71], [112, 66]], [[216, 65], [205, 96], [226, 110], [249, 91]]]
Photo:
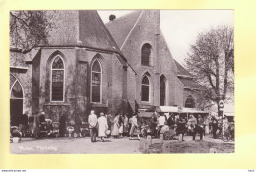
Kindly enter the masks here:
[[61, 115], [87, 118], [90, 110], [197, 107], [200, 86], [172, 57], [160, 10], [109, 19], [104, 24], [96, 10], [58, 11], [47, 45], [10, 47], [11, 125], [23, 113], [42, 111], [58, 121]]

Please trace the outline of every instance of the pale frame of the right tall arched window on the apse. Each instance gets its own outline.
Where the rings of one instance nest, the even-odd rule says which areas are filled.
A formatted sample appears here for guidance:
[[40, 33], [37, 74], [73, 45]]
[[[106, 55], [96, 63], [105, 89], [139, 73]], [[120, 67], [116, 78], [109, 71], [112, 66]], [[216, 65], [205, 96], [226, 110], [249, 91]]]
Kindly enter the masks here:
[[[95, 62], [98, 62], [99, 63], [99, 66], [100, 66], [100, 72], [96, 72], [96, 71], [94, 71], [93, 72], [93, 66], [94, 66], [94, 63]], [[92, 91], [92, 77], [93, 77], [93, 75], [92, 75], [92, 73], [98, 73], [98, 74], [100, 74], [100, 102], [93, 102], [92, 101], [92, 94], [93, 94], [93, 91]], [[102, 80], [103, 79], [103, 68], [102, 68], [102, 65], [101, 65], [101, 63], [100, 63], [100, 61], [96, 58], [96, 59], [94, 59], [93, 60], [93, 62], [92, 62], [92, 64], [91, 64], [91, 67], [90, 67], [90, 103], [93, 103], [93, 104], [102, 104]]]

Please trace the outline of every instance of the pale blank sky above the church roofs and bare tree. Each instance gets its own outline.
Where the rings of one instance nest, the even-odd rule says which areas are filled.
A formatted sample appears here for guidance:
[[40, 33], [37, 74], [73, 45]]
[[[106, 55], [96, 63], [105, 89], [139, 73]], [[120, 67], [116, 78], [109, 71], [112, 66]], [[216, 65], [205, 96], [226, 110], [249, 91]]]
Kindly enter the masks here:
[[[117, 18], [132, 10], [98, 11], [103, 22], [109, 15]], [[200, 32], [219, 25], [233, 26], [233, 10], [160, 10], [160, 29], [175, 60], [185, 65], [184, 59]]]

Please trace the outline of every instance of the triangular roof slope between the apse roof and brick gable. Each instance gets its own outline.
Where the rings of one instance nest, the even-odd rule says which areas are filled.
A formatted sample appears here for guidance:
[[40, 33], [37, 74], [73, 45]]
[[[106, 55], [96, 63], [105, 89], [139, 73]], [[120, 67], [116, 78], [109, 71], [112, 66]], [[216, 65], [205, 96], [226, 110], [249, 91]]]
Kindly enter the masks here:
[[122, 46], [125, 38], [135, 25], [142, 10], [135, 10], [127, 15], [117, 18], [105, 24], [106, 28], [111, 32], [115, 42], [119, 47]]

